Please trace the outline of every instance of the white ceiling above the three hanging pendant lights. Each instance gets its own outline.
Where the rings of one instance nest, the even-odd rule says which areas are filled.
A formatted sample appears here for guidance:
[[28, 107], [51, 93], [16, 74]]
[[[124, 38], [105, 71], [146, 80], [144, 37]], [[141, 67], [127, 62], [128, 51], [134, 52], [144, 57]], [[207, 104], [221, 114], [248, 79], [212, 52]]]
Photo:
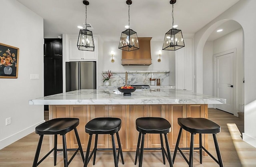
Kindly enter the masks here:
[[[78, 34], [85, 22], [82, 0], [17, 0], [44, 18], [44, 38]], [[177, 0], [174, 24], [183, 34], [194, 34], [239, 0]], [[128, 25], [126, 0], [89, 0], [87, 23], [104, 41], [118, 41]], [[172, 26], [170, 0], [133, 0], [130, 5], [130, 28], [138, 37], [163, 40]]]

